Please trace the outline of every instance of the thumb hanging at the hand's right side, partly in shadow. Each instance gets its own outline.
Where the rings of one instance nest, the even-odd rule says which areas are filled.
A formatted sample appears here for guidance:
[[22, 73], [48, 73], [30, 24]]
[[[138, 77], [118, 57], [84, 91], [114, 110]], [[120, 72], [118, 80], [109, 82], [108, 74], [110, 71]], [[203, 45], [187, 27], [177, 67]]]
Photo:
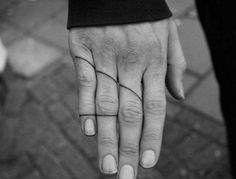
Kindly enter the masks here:
[[186, 69], [186, 61], [180, 45], [177, 27], [173, 20], [170, 21], [167, 64], [167, 89], [174, 98], [184, 99], [183, 75]]

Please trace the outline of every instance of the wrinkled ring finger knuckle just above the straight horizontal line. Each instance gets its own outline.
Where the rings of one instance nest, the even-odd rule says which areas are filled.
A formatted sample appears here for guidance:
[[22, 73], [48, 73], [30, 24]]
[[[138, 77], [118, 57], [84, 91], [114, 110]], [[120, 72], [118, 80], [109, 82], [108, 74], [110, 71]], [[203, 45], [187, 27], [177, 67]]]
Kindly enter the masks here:
[[117, 113], [118, 99], [111, 95], [98, 95], [96, 98], [97, 110], [102, 114]]

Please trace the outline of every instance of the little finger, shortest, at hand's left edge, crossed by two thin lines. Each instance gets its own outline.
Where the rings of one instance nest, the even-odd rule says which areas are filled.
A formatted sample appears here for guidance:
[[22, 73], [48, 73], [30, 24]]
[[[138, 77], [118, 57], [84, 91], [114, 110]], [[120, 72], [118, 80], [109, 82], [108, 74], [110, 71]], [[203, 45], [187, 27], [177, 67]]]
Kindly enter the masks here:
[[96, 75], [91, 51], [80, 39], [77, 31], [70, 32], [69, 45], [77, 80], [78, 113], [82, 131], [86, 135], [95, 134], [95, 90]]

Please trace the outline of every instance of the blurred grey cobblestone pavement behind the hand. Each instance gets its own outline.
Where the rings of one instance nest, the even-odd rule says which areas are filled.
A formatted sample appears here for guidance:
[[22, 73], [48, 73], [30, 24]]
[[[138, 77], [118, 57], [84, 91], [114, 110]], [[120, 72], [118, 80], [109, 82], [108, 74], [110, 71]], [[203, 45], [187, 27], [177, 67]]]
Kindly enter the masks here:
[[[229, 179], [218, 87], [193, 1], [168, 2], [188, 61], [187, 99], [168, 97], [159, 163], [140, 168], [139, 179]], [[10, 60], [0, 113], [1, 179], [114, 178], [99, 172], [96, 138], [83, 136], [76, 120], [66, 15], [66, 0], [0, 0], [0, 36]]]

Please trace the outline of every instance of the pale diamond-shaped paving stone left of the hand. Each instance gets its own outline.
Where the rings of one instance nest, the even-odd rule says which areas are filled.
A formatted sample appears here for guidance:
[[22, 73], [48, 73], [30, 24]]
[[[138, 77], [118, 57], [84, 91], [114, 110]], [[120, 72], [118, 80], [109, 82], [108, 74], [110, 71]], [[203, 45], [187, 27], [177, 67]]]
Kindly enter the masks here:
[[60, 51], [33, 38], [17, 41], [8, 50], [13, 70], [26, 77], [36, 75], [61, 55]]

